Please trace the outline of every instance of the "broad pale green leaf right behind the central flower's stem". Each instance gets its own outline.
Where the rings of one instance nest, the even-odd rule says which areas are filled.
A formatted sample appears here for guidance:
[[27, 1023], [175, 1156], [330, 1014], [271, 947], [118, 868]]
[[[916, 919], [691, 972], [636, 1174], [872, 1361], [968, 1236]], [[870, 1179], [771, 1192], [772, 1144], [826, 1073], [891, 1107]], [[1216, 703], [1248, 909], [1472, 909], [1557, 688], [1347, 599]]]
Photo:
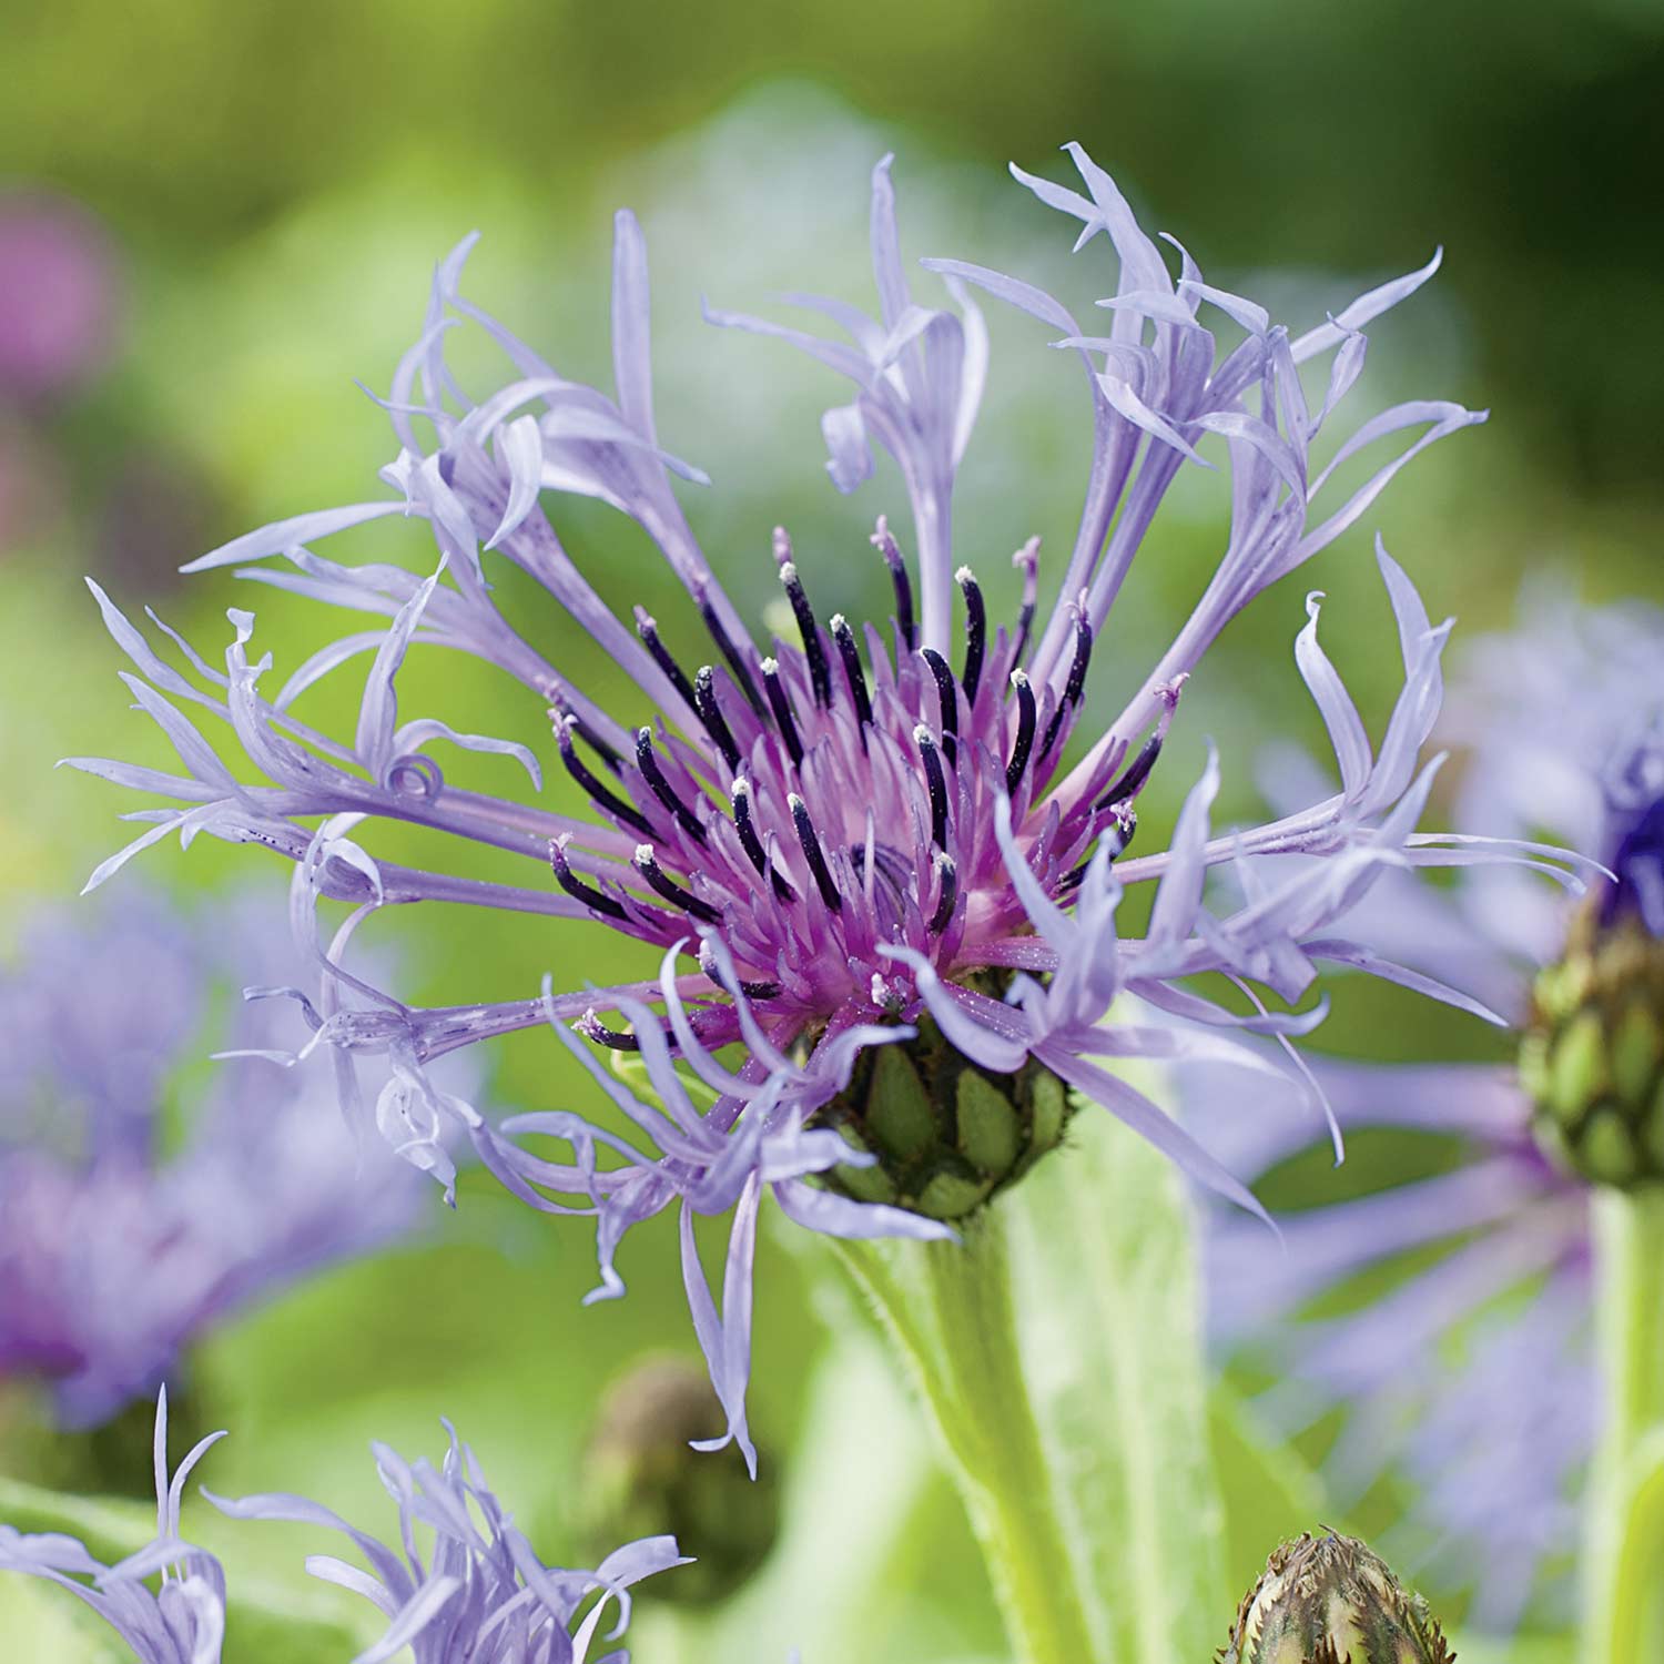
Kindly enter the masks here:
[[1023, 1371], [1077, 1581], [1123, 1664], [1211, 1657], [1240, 1591], [1225, 1569], [1185, 1180], [1082, 1102], [1063, 1150], [1005, 1208]]

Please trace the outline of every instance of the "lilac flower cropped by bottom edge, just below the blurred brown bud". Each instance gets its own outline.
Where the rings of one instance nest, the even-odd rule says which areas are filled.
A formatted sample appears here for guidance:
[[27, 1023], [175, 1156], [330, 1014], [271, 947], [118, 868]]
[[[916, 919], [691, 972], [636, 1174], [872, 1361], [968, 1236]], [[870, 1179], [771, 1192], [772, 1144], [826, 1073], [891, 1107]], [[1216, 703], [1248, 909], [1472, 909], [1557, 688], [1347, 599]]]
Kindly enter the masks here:
[[[686, 1566], [676, 1538], [641, 1538], [609, 1554], [594, 1571], [544, 1566], [486, 1486], [474, 1453], [444, 1423], [451, 1446], [443, 1463], [406, 1463], [386, 1444], [373, 1444], [376, 1473], [399, 1509], [399, 1549], [349, 1526], [305, 1496], [223, 1498], [203, 1491], [233, 1519], [281, 1519], [326, 1526], [353, 1539], [369, 1571], [311, 1554], [306, 1569], [326, 1582], [364, 1596], [386, 1614], [388, 1632], [353, 1664], [384, 1664], [406, 1647], [416, 1664], [584, 1664], [601, 1632], [607, 1602], [617, 1601], [617, 1639], [629, 1622], [629, 1589], [656, 1572]], [[418, 1528], [433, 1531], [424, 1551]], [[579, 1609], [601, 1591], [582, 1619]], [[577, 1629], [572, 1631], [572, 1622]], [[609, 1652], [596, 1664], [627, 1664]]]

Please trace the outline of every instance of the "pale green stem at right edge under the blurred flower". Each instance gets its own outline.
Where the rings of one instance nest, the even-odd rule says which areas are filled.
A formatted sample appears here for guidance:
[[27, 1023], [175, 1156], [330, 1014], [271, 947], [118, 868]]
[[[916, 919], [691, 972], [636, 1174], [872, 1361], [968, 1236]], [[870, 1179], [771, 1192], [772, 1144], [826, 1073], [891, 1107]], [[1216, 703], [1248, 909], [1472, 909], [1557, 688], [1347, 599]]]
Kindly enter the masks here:
[[1664, 1664], [1664, 1191], [1594, 1198], [1604, 1423], [1586, 1523], [1587, 1664]]

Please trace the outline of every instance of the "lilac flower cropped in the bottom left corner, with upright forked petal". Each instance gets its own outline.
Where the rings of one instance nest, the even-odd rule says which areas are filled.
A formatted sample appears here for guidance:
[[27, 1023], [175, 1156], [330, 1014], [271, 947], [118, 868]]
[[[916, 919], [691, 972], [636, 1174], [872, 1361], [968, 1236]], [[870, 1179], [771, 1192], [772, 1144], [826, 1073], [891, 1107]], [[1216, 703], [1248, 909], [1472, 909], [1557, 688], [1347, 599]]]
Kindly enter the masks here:
[[[223, 1439], [210, 1433], [168, 1478], [168, 1393], [156, 1396], [156, 1536], [136, 1554], [102, 1566], [85, 1544], [62, 1533], [23, 1534], [0, 1524], [0, 1571], [20, 1571], [85, 1601], [140, 1664], [220, 1664], [225, 1639], [225, 1569], [180, 1538], [180, 1498], [203, 1453]], [[148, 1577], [161, 1576], [151, 1589]], [[87, 1582], [83, 1579], [92, 1579]]]

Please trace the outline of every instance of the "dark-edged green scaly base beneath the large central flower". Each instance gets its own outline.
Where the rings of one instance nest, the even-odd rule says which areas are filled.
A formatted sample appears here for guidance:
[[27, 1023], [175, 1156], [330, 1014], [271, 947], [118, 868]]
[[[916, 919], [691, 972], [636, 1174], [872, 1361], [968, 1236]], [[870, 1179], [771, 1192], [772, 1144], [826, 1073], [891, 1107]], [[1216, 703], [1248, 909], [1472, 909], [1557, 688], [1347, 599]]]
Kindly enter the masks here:
[[827, 1183], [857, 1201], [962, 1220], [1057, 1148], [1068, 1092], [1033, 1062], [1015, 1075], [978, 1068], [929, 1013], [917, 1027], [914, 1040], [862, 1052], [849, 1088], [820, 1112], [875, 1156], [872, 1166], [835, 1168]]

